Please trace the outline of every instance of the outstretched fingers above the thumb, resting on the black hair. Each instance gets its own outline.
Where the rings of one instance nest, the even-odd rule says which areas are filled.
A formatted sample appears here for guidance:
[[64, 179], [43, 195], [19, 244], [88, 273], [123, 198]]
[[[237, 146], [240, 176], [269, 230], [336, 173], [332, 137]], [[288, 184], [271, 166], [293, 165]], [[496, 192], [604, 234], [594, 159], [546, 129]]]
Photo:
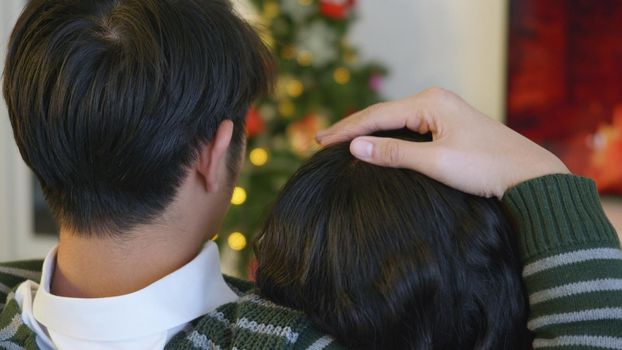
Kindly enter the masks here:
[[[402, 129], [409, 124], [408, 119], [413, 114], [412, 110], [412, 106], [409, 106], [406, 100], [376, 104], [319, 132], [317, 141], [322, 146], [327, 146], [368, 135], [374, 131]], [[413, 122], [415, 121], [410, 121]]]

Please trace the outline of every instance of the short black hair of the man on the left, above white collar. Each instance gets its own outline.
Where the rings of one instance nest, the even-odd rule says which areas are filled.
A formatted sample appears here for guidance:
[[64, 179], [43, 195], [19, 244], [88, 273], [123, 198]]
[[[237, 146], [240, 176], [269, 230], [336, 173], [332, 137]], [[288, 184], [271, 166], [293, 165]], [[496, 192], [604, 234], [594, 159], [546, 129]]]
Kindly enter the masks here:
[[31, 0], [4, 97], [61, 226], [114, 233], [161, 214], [226, 119], [237, 167], [246, 111], [272, 71], [227, 0]]

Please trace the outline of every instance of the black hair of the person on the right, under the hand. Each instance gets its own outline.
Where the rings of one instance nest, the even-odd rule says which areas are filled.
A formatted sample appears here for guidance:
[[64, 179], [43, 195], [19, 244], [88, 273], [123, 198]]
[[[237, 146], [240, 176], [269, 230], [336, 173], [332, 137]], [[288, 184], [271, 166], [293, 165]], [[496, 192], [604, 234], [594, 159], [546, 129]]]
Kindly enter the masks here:
[[257, 287], [353, 349], [523, 349], [514, 234], [497, 199], [338, 144], [280, 193], [255, 242]]

